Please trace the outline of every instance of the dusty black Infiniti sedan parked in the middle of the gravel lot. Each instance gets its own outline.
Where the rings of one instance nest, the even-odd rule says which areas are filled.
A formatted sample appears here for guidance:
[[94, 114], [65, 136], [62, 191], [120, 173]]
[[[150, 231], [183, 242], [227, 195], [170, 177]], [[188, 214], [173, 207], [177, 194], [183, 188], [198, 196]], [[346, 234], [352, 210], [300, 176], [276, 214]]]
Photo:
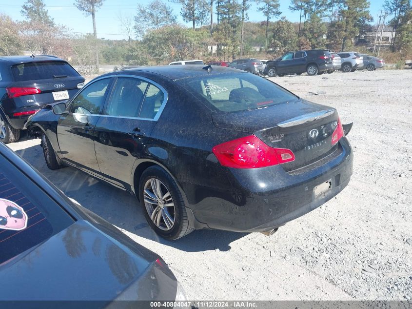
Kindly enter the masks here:
[[167, 239], [200, 228], [271, 234], [352, 175], [334, 108], [225, 67], [108, 73], [28, 127], [49, 168], [72, 165], [134, 192]]

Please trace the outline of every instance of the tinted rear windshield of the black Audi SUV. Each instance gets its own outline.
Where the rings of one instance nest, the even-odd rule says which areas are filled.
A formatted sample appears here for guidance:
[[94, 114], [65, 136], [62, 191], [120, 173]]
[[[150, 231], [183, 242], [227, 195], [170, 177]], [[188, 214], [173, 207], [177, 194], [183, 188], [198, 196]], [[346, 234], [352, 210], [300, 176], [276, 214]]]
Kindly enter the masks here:
[[67, 62], [62, 61], [20, 63], [13, 65], [11, 71], [15, 82], [80, 76]]

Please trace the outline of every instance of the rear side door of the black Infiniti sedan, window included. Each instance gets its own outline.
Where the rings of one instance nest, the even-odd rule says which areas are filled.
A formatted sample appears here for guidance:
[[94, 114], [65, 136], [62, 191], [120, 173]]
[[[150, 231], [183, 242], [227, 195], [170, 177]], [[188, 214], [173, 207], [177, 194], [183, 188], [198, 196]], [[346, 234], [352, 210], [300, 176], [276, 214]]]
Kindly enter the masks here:
[[167, 101], [166, 91], [143, 77], [119, 75], [95, 128], [96, 158], [104, 178], [130, 189], [136, 159]]

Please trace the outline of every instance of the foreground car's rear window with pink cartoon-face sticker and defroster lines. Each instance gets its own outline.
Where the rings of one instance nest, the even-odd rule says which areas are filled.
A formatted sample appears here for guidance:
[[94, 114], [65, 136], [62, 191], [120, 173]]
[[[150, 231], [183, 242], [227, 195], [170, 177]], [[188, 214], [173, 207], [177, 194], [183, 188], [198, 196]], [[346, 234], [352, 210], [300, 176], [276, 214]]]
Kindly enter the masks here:
[[74, 223], [14, 165], [0, 156], [0, 265]]

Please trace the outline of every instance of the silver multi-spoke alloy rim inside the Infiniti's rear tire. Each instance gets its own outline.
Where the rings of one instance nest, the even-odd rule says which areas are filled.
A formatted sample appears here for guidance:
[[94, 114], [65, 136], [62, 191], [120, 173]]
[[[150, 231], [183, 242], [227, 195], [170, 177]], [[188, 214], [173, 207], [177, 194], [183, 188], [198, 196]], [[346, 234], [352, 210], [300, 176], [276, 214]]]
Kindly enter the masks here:
[[150, 178], [143, 188], [144, 206], [152, 222], [162, 230], [175, 224], [176, 208], [168, 188], [157, 178]]

